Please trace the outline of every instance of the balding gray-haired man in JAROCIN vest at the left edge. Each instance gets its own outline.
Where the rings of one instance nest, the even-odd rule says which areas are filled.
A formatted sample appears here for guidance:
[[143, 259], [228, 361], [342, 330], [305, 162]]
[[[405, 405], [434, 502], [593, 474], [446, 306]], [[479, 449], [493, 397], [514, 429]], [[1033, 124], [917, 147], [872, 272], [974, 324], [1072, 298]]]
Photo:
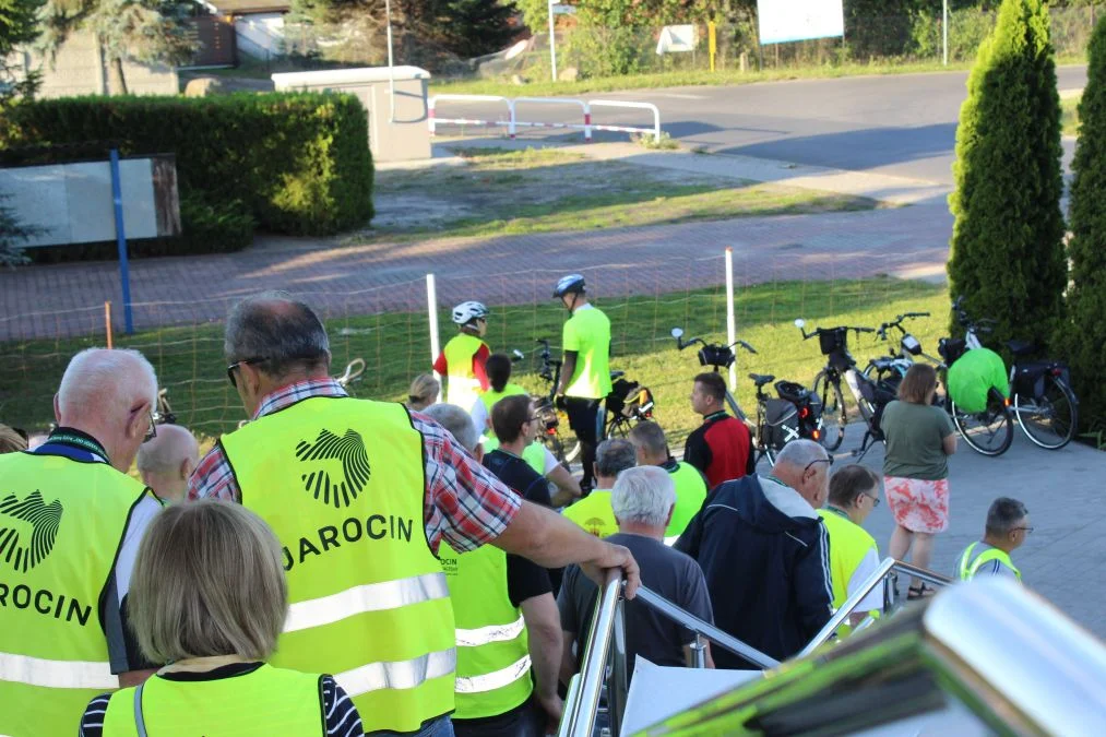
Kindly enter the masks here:
[[0, 734], [64, 734], [93, 697], [156, 667], [126, 615], [138, 543], [160, 509], [127, 476], [156, 403], [140, 353], [82, 351], [54, 397], [58, 429], [0, 456], [0, 653], [22, 663], [0, 678], [0, 704], [19, 705], [0, 709]]

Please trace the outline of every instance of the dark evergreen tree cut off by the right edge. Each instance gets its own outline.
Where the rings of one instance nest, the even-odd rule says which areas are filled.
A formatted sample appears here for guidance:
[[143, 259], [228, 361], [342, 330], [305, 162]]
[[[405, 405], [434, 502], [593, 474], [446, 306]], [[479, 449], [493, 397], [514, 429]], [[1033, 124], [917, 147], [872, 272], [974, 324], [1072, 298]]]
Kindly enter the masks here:
[[1106, 425], [1106, 20], [1095, 25], [1087, 55], [1072, 162], [1070, 320], [1061, 323], [1055, 342], [1071, 363], [1084, 423], [1100, 429]]

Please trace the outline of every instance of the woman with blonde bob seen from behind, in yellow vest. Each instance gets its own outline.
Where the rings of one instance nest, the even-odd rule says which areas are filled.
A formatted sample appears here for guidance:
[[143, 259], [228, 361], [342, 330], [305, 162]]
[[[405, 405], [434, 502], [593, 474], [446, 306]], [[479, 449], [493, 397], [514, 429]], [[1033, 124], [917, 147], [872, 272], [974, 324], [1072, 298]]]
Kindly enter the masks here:
[[166, 507], [135, 559], [128, 611], [143, 654], [165, 667], [97, 696], [83, 737], [362, 735], [331, 676], [265, 663], [288, 615], [280, 543], [239, 505]]

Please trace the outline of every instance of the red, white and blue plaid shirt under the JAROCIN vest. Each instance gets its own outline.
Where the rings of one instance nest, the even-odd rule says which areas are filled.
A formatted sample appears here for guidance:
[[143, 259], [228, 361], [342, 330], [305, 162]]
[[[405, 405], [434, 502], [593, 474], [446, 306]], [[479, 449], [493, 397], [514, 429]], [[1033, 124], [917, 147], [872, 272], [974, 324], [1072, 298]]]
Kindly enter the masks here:
[[[276, 390], [262, 399], [253, 419], [313, 396], [346, 396], [330, 378], [307, 380]], [[430, 549], [445, 540], [458, 552], [474, 550], [502, 534], [522, 501], [461, 447], [441, 425], [411, 413], [422, 435], [426, 491], [422, 521]], [[241, 497], [234, 473], [221, 445], [212, 447], [188, 479], [188, 498], [237, 501]]]

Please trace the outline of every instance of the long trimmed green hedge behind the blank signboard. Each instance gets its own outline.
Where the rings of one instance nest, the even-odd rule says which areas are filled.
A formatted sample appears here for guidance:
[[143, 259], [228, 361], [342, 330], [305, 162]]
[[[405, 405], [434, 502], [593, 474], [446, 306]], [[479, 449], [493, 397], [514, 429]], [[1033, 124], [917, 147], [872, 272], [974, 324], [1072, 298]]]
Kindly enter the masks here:
[[74, 150], [109, 145], [123, 156], [176, 154], [185, 231], [177, 252], [237, 250], [253, 227], [316, 236], [373, 217], [368, 124], [353, 95], [90, 96], [0, 115], [7, 166], [73, 160]]

